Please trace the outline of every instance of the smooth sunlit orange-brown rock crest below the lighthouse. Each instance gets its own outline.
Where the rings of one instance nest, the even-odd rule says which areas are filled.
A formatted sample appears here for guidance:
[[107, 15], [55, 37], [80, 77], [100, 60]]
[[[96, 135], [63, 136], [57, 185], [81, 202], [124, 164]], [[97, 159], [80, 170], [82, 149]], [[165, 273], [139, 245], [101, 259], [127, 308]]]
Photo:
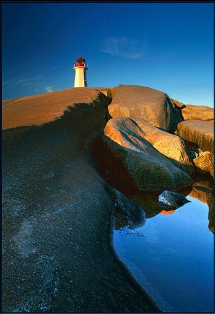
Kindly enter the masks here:
[[[17, 128], [20, 126], [40, 126], [56, 119], [61, 119], [63, 112], [68, 107], [75, 107], [79, 103], [96, 103], [97, 101], [104, 103], [102, 107], [102, 115], [107, 115], [107, 106], [111, 103], [111, 98], [106, 97], [104, 88], [86, 88], [64, 89], [62, 91], [54, 91], [51, 93], [39, 94], [34, 96], [26, 96], [3, 100], [2, 102], [2, 128]], [[106, 94], [110, 94], [106, 92]], [[91, 107], [83, 108], [83, 110], [91, 110]]]

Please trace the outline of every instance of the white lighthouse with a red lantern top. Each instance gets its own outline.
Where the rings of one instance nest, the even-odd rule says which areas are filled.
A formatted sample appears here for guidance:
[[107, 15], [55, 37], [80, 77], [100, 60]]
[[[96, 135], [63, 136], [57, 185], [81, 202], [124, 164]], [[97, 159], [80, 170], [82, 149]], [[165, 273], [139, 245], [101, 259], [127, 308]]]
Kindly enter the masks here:
[[85, 65], [85, 59], [81, 56], [76, 59], [73, 69], [75, 70], [74, 87], [88, 87], [86, 82], [86, 70], [88, 70], [88, 67]]

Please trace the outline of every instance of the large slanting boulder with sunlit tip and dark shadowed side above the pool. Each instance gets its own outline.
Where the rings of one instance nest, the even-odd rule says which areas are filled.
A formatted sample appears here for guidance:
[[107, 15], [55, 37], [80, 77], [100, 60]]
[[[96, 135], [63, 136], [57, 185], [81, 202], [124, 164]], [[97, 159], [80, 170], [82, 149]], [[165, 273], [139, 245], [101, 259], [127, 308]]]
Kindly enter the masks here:
[[99, 144], [99, 155], [106, 178], [121, 186], [177, 190], [192, 184], [189, 174], [154, 149], [145, 140], [145, 132], [129, 118], [109, 120]]

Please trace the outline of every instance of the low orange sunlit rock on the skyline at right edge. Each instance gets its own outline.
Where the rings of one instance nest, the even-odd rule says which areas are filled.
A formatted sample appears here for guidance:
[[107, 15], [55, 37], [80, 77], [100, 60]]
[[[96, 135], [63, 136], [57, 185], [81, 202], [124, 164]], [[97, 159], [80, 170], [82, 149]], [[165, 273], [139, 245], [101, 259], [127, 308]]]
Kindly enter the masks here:
[[184, 120], [214, 120], [214, 109], [207, 106], [186, 105], [182, 108]]

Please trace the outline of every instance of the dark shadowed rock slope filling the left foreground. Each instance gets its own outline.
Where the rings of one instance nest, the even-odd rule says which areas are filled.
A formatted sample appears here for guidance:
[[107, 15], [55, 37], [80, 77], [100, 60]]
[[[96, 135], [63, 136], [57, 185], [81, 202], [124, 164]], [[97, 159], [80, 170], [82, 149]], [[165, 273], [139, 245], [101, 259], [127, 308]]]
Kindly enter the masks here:
[[114, 204], [89, 151], [106, 104], [93, 94], [92, 103], [70, 94], [67, 110], [58, 98], [56, 121], [41, 125], [35, 110], [37, 126], [3, 131], [3, 312], [159, 311], [113, 250]]

